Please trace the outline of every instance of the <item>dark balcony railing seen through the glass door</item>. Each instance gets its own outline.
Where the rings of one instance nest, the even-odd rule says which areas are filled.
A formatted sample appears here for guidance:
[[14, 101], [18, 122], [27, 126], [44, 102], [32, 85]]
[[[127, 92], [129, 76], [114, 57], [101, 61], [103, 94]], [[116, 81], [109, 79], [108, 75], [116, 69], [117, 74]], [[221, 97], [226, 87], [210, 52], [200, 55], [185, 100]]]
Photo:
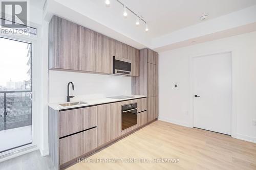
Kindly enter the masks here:
[[0, 131], [31, 125], [31, 90], [0, 91]]

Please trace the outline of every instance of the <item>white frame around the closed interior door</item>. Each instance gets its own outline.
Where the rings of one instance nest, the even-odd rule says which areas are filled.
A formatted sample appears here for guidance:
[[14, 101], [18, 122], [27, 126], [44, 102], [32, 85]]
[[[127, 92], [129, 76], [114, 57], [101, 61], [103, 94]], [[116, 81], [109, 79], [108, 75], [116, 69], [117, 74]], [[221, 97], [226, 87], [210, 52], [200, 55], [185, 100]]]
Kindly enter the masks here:
[[193, 59], [196, 57], [203, 57], [203, 56], [210, 56], [210, 55], [217, 55], [217, 54], [224, 54], [224, 53], [230, 53], [231, 54], [231, 117], [230, 117], [230, 123], [231, 123], [231, 137], [236, 138], [237, 134], [237, 114], [236, 109], [234, 106], [234, 89], [233, 89], [233, 83], [234, 83], [234, 71], [233, 71], [233, 55], [232, 50], [226, 50], [226, 51], [217, 51], [217, 52], [210, 52], [210, 53], [203, 53], [203, 54], [196, 54], [191, 55], [189, 57], [189, 82], [190, 82], [190, 88], [189, 88], [189, 112], [190, 114], [190, 127], [194, 127], [194, 71], [193, 71]]

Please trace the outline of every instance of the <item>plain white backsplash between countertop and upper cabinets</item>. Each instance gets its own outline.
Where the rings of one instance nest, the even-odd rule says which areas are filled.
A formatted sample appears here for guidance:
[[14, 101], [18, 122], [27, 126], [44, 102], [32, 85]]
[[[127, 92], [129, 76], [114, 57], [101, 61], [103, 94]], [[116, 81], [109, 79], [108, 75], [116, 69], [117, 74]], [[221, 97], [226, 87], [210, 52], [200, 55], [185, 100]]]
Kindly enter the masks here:
[[48, 103], [66, 102], [69, 82], [75, 87], [70, 85], [71, 102], [132, 94], [131, 77], [49, 70]]

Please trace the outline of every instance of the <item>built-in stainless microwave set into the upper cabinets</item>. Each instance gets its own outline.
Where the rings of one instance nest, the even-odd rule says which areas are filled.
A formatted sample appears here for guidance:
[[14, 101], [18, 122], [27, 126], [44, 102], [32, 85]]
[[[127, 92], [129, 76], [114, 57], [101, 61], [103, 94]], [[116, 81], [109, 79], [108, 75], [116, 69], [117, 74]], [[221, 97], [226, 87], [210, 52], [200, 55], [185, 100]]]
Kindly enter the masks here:
[[130, 76], [132, 63], [129, 59], [113, 57], [113, 74]]

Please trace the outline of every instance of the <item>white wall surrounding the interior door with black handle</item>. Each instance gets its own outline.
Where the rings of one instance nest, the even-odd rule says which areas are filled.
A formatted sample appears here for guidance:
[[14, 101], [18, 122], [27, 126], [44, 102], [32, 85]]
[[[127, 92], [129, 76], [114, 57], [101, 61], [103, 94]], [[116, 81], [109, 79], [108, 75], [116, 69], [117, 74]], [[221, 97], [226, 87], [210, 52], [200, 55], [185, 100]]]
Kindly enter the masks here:
[[[256, 142], [256, 32], [159, 54], [159, 119], [193, 127], [190, 58], [232, 52], [232, 136]], [[178, 88], [174, 85], [178, 84]]]

